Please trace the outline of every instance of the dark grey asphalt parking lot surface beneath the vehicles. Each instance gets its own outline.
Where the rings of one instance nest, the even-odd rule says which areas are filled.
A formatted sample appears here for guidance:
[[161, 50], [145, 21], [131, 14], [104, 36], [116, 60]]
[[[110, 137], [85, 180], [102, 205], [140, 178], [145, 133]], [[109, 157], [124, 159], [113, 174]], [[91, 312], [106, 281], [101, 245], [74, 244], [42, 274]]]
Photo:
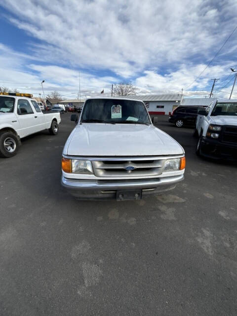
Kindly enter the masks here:
[[139, 201], [78, 201], [60, 185], [74, 128], [25, 138], [0, 159], [0, 315], [237, 315], [237, 166], [195, 155], [185, 180]]

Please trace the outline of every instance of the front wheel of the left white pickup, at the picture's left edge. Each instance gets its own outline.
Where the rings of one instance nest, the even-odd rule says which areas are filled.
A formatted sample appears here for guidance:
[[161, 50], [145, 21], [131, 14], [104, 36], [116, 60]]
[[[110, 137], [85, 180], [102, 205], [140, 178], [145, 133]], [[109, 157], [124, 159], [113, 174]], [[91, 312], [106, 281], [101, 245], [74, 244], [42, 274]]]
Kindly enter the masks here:
[[12, 132], [0, 133], [0, 157], [10, 158], [17, 154], [19, 141], [17, 136]]

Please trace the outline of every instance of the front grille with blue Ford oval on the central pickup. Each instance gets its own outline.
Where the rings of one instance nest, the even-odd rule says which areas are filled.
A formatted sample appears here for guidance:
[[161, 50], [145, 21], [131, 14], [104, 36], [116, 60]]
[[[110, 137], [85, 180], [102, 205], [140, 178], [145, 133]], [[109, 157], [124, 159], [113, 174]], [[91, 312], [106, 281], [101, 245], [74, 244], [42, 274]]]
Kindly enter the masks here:
[[[91, 161], [97, 177], [157, 176], [162, 173], [164, 159]], [[126, 167], [134, 168], [126, 170]]]

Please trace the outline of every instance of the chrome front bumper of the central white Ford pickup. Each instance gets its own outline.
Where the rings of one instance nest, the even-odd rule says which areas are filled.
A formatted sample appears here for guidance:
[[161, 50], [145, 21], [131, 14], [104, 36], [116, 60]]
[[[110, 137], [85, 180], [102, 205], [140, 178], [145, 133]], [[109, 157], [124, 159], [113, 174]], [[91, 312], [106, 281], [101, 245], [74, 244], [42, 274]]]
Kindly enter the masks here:
[[184, 174], [170, 177], [131, 180], [79, 180], [62, 176], [62, 186], [79, 199], [116, 199], [117, 190], [141, 189], [142, 195], [167, 192], [184, 179]]

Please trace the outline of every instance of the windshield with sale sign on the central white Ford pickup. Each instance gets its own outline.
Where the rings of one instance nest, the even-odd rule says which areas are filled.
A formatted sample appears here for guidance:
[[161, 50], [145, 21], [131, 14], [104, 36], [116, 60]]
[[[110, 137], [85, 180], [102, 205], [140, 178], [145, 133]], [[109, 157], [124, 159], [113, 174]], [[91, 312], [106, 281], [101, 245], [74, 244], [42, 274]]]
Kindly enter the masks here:
[[151, 124], [141, 101], [90, 99], [84, 104], [81, 122]]

